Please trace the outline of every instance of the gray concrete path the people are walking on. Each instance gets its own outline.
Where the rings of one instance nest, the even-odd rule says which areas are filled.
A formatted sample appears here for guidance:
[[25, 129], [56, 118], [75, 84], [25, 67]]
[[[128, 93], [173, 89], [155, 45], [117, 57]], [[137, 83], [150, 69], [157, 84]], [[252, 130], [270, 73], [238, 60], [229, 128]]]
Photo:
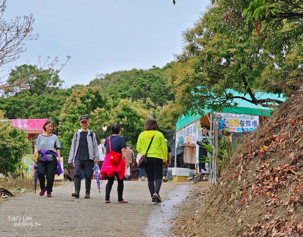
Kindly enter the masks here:
[[71, 196], [72, 182], [54, 187], [51, 198], [39, 196], [40, 190], [11, 198], [0, 204], [0, 236], [170, 236], [175, 206], [190, 189], [189, 183], [162, 183], [163, 202], [151, 205], [147, 182], [125, 181], [123, 198], [129, 202], [118, 204], [115, 181], [108, 204], [104, 202], [106, 183], [99, 193], [92, 180], [90, 199], [84, 199], [84, 181], [79, 199]]

